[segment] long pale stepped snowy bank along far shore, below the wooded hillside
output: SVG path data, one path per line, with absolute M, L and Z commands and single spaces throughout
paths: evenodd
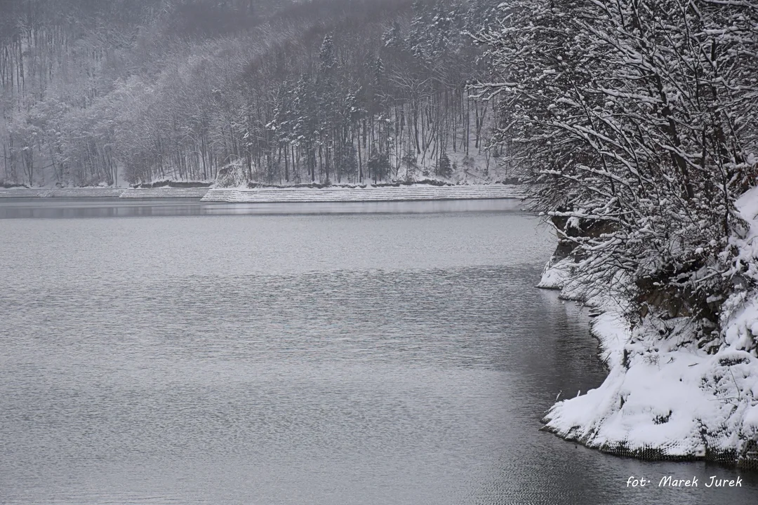
M 340 201 L 421 201 L 475 200 L 486 198 L 523 198 L 518 185 L 401 185 L 344 188 L 215 188 L 203 201 L 238 203 L 305 203 Z

